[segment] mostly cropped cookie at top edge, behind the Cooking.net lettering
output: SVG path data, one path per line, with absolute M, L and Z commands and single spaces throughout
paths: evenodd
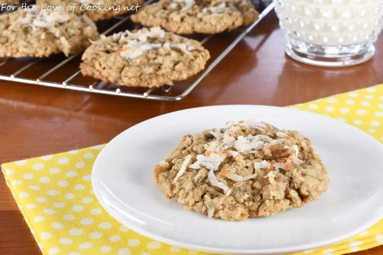
M 142 3 L 144 3 L 144 0 L 36 0 L 36 4 L 39 6 L 41 4 L 61 5 L 67 8 L 69 5 L 76 4 L 77 8 L 74 9 L 74 13 L 85 14 L 93 21 L 110 19 L 124 13 L 136 11 L 136 7 L 141 6 Z

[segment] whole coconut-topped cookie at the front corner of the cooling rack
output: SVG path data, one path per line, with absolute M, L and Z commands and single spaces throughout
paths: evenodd
M 124 31 L 85 50 L 83 75 L 132 87 L 160 87 L 186 80 L 205 68 L 210 58 L 200 42 L 159 27 Z

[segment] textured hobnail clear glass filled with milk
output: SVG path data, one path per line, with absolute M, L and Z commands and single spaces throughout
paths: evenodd
M 383 0 L 274 0 L 286 53 L 303 63 L 344 67 L 375 54 Z

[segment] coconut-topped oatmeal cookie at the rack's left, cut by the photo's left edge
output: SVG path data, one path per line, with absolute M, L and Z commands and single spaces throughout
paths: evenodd
M 48 57 L 79 53 L 98 36 L 87 16 L 67 11 L 21 11 L 0 16 L 0 57 Z

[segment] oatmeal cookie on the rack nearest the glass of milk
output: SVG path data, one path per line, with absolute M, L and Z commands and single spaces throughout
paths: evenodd
M 160 0 L 139 9 L 131 19 L 177 34 L 217 34 L 247 26 L 258 15 L 250 0 Z

